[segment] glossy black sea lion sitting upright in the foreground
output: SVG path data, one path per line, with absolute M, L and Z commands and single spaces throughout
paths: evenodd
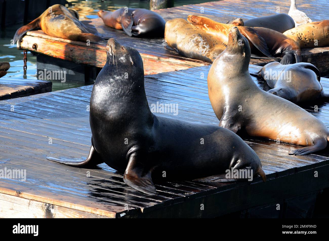
M 152 179 L 191 180 L 217 175 L 213 181 L 237 181 L 225 178 L 230 168 L 252 170 L 253 175 L 266 180 L 259 157 L 235 133 L 151 112 L 144 89 L 143 61 L 136 49 L 111 38 L 106 52 L 106 63 L 90 98 L 92 137 L 88 158 L 47 157 L 49 160 L 79 167 L 105 162 L 124 173 L 127 185 L 150 195 L 156 194 Z

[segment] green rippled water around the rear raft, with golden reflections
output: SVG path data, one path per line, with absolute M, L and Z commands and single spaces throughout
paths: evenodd
M 211 0 L 175 0 L 175 6 L 181 6 L 186 4 L 197 4 L 203 2 L 210 2 Z M 129 8 L 146 8 L 149 9 L 149 1 L 127 1 L 127 0 L 115 0 L 115 1 L 101 1 L 101 0 L 67 0 L 69 4 L 66 4 L 66 7 L 73 8 L 79 12 L 80 20 L 87 19 L 91 17 L 98 17 L 97 12 L 99 10 L 116 10 L 122 7 Z M 18 10 L 17 10 L 18 11 Z M 9 78 L 23 78 L 23 51 L 18 50 L 16 45 L 11 45 L 11 40 L 18 28 L 24 24 L 17 24 L 12 26 L 7 26 L 5 29 L 1 30 L 0 33 L 0 61 L 10 62 L 10 69 L 6 75 Z M 49 46 L 51 47 L 51 46 Z M 28 52 L 27 58 L 27 79 L 37 79 L 37 59 L 30 52 Z M 85 85 L 85 82 L 82 81 L 72 81 L 66 80 L 65 83 L 61 83 L 60 80 L 52 81 L 53 82 L 53 91 L 74 88 Z M 90 84 L 90 83 L 87 83 Z

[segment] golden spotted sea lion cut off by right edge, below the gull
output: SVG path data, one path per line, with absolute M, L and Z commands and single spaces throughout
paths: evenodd
M 329 45 L 329 20 L 300 25 L 283 33 L 303 48 L 317 48 Z

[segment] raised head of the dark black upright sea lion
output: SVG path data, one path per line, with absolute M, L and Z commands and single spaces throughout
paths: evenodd
M 143 60 L 136 49 L 123 46 L 114 38 L 110 38 L 106 44 L 106 54 L 106 65 L 120 68 L 120 70 L 122 70 L 124 66 L 124 72 L 144 74 Z

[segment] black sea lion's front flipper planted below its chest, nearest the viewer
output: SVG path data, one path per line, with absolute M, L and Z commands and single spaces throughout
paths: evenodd
M 129 157 L 126 171 L 123 175 L 123 181 L 128 186 L 146 193 L 156 195 L 157 191 L 151 178 L 151 170 L 145 170 L 145 165 L 138 160 L 138 154 L 133 153 Z

